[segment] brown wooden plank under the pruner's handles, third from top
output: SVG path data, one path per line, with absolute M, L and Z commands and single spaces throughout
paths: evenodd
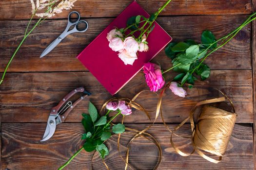
M 166 77 L 167 80 L 171 78 Z M 213 70 L 206 83 L 209 85 L 198 86 L 200 100 L 213 98 L 212 94 L 216 97 L 217 92 L 212 89 L 216 87 L 234 102 L 238 114 L 236 122 L 253 122 L 252 70 Z M 2 122 L 46 122 L 50 109 L 69 91 L 81 85 L 92 92 L 90 101 L 98 109 L 111 98 L 90 72 L 9 73 L 0 86 Z M 133 98 L 145 89 L 148 87 L 144 81 L 144 74 L 139 72 L 116 96 Z M 189 115 L 189 111 L 198 101 L 198 93 L 196 88 L 188 90 L 188 93 L 187 98 L 183 99 L 166 90 L 163 114 L 167 122 L 181 122 Z M 157 98 L 153 93 L 145 93 L 138 98 L 138 102 L 146 109 L 154 111 Z M 88 99 L 79 103 L 67 121 L 80 122 L 81 113 L 87 112 L 87 106 Z M 126 122 L 151 122 L 141 112 L 134 114 L 136 116 L 127 117 Z M 155 113 L 151 112 L 150 115 L 154 118 Z M 161 122 L 160 118 L 158 122 Z

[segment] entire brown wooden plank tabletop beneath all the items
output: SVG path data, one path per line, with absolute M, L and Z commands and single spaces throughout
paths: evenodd
M 67 123 L 57 126 L 51 139 L 44 143 L 39 140 L 43 136 L 50 109 L 70 90 L 83 85 L 93 93 L 90 101 L 98 109 L 111 98 L 76 56 L 131 2 L 132 0 L 78 0 L 73 9 L 79 11 L 81 17 L 89 22 L 88 31 L 68 35 L 43 59 L 39 59 L 40 53 L 63 31 L 69 11 L 45 20 L 29 35 L 0 85 L 2 170 L 56 170 L 81 147 L 81 113 L 87 112 L 88 99 L 79 103 L 67 118 Z M 138 0 L 149 13 L 155 12 L 164 2 L 165 0 Z M 158 23 L 174 41 L 186 38 L 199 41 L 203 30 L 209 29 L 219 38 L 234 30 L 255 10 L 256 0 L 173 0 L 158 17 Z M 0 0 L 0 72 L 3 72 L 20 43 L 30 16 L 29 0 Z M 163 149 L 163 159 L 158 170 L 256 169 L 255 35 L 256 22 L 246 26 L 231 42 L 206 61 L 212 69 L 207 80 L 208 85 L 225 92 L 234 102 L 238 114 L 222 161 L 214 164 L 197 154 L 182 157 L 174 150 L 172 153 L 165 152 L 166 148 L 171 147 L 170 133 L 159 118 L 158 123 L 149 130 Z M 158 61 L 164 69 L 171 66 L 171 61 L 163 51 L 154 61 Z M 139 91 L 148 89 L 143 76 L 139 72 L 116 96 L 132 98 Z M 206 96 L 213 93 L 209 86 L 201 86 L 199 91 Z M 156 97 L 145 94 L 138 102 L 153 107 Z M 193 104 L 195 102 L 177 98 L 167 92 L 163 102 L 165 121 L 174 128 L 188 116 Z M 154 117 L 154 113 L 151 116 Z M 152 121 L 139 112 L 125 120 L 127 127 L 137 129 L 143 129 L 150 122 Z M 188 135 L 189 128 L 189 124 L 186 124 L 179 134 Z M 130 137 L 122 137 L 122 154 Z M 188 140 L 174 140 L 180 148 L 189 144 Z M 117 137 L 112 137 L 107 142 L 110 154 L 106 163 L 111 170 L 124 168 L 124 163 L 118 156 L 116 141 Z M 153 144 L 136 140 L 131 150 L 131 164 L 136 170 L 150 170 L 156 163 L 157 154 Z M 81 152 L 67 170 L 89 170 L 91 157 L 92 153 Z M 93 167 L 95 170 L 104 170 L 98 157 L 93 162 Z

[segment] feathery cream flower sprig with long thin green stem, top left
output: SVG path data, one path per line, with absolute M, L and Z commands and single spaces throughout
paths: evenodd
M 34 0 L 30 0 L 31 6 L 32 6 L 32 16 L 28 22 L 27 28 L 25 30 L 25 34 L 23 39 L 21 40 L 19 46 L 14 51 L 12 57 L 10 58 L 9 62 L 7 63 L 4 72 L 2 74 L 2 77 L 0 79 L 0 85 L 3 82 L 3 79 L 5 77 L 6 71 L 9 68 L 14 56 L 19 51 L 20 46 L 25 41 L 25 39 L 28 37 L 29 34 L 32 33 L 32 31 L 40 24 L 42 21 L 44 21 L 47 17 L 53 17 L 56 14 L 59 14 L 62 12 L 62 10 L 69 10 L 74 6 L 74 3 L 77 0 L 36 0 L 36 3 Z M 43 12 L 40 12 L 43 11 Z M 39 17 L 38 21 L 35 23 L 35 25 L 31 28 L 30 31 L 28 31 L 28 28 L 31 24 L 32 19 L 37 16 Z

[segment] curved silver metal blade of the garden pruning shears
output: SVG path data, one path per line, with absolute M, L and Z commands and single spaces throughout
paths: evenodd
M 42 140 L 40 140 L 40 142 L 46 141 L 53 136 L 56 129 L 55 118 L 56 116 L 51 116 L 51 115 L 49 116 L 43 138 Z

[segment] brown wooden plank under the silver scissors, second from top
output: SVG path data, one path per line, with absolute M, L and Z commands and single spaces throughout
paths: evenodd
M 246 17 L 245 15 L 160 17 L 158 22 L 173 36 L 174 41 L 191 38 L 199 42 L 203 30 L 209 29 L 217 38 L 220 38 L 236 29 Z M 113 18 L 87 19 L 90 27 L 86 33 L 68 35 L 56 49 L 45 58 L 39 59 L 41 52 L 58 37 L 67 22 L 66 20 L 47 20 L 27 38 L 8 71 L 86 70 L 75 57 L 112 20 Z M 2 37 L 0 39 L 0 71 L 4 70 L 10 56 L 22 39 L 27 22 L 0 21 L 0 37 Z M 51 28 L 50 32 L 49 28 Z M 248 25 L 230 43 L 212 54 L 206 62 L 211 69 L 251 69 L 250 39 L 250 25 Z M 158 61 L 165 69 L 171 67 L 171 60 L 165 56 L 163 51 L 154 61 Z

